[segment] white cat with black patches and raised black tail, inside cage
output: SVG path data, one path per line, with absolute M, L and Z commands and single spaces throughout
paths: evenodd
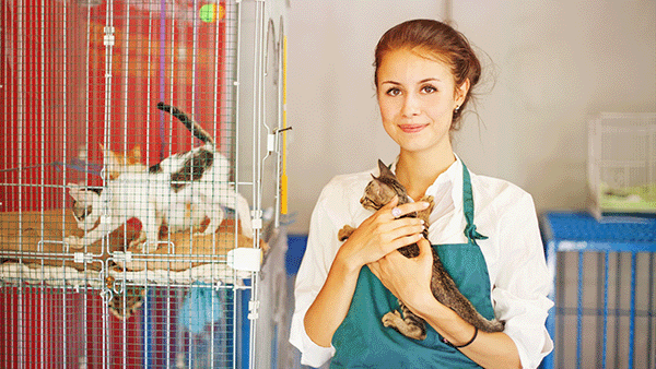
M 222 206 L 236 209 L 242 234 L 253 237 L 248 202 L 239 193 L 234 195 L 230 162 L 216 151 L 213 138 L 178 108 L 164 103 L 157 108 L 177 118 L 204 145 L 174 154 L 148 169 L 125 170 L 105 188 L 69 183 L 73 215 L 78 227 L 86 231 L 83 237 L 66 237 L 69 247 L 90 246 L 134 217 L 141 222 L 142 235 L 130 246 L 145 242 L 144 251 L 153 252 L 162 224 L 175 231 L 199 226 L 207 216 L 210 224 L 202 234 L 213 234 L 225 216 Z M 104 152 L 107 157 L 109 152 Z M 115 162 L 108 163 L 112 167 Z M 189 210 L 191 219 L 185 217 Z

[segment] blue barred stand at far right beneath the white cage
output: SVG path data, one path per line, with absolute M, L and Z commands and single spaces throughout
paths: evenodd
M 648 317 L 647 332 L 652 332 L 655 319 L 654 306 L 656 302 L 654 302 L 654 296 L 649 294 L 649 296 L 647 296 L 649 301 L 648 311 L 636 310 L 636 274 L 646 273 L 652 283 L 655 281 L 654 262 L 656 258 L 654 258 L 654 254 L 656 253 L 656 216 L 653 214 L 609 214 L 604 216 L 601 219 L 596 219 L 587 212 L 549 212 L 541 217 L 541 228 L 547 249 L 547 263 L 552 273 L 553 281 L 550 297 L 554 301 L 557 301 L 558 296 L 562 294 L 562 290 L 559 290 L 559 288 L 565 288 L 564 286 L 557 285 L 558 276 L 565 272 L 577 273 L 577 306 L 575 308 L 567 308 L 563 305 L 559 308 L 559 305 L 562 305 L 562 301 L 557 301 L 557 309 L 552 309 L 550 311 L 550 316 L 547 321 L 549 332 L 554 341 L 557 341 L 555 347 L 557 350 L 559 350 L 559 348 L 563 348 L 563 346 L 562 342 L 559 342 L 559 337 L 554 336 L 557 316 L 576 317 L 576 330 L 574 331 L 567 329 L 567 332 L 570 332 L 567 334 L 573 332 L 576 333 L 576 361 L 563 362 L 561 357 L 559 360 L 560 362 L 555 365 L 554 353 L 552 353 L 544 359 L 542 368 L 555 368 L 561 367 L 562 365 L 567 365 L 567 367 L 571 365 L 575 368 L 582 367 L 582 340 L 584 332 L 583 319 L 585 316 L 596 316 L 601 321 L 601 328 L 599 330 L 598 337 L 599 347 L 597 347 L 598 362 L 600 364 L 601 368 L 613 367 L 613 365 L 619 365 L 620 361 L 622 365 L 626 365 L 628 368 L 640 367 L 636 366 L 635 362 L 636 352 L 634 343 L 636 332 L 636 316 Z M 578 260 L 578 267 L 576 271 L 558 270 L 558 253 L 563 251 L 575 252 L 575 257 Z M 584 267 L 584 254 L 587 252 L 597 252 L 599 258 L 601 258 L 602 262 L 599 264 L 600 266 L 598 265 L 599 270 L 586 271 Z M 616 255 L 616 258 L 618 258 L 617 260 L 620 260 L 620 255 L 624 254 L 631 261 L 630 271 L 622 274 L 629 279 L 631 287 L 629 294 L 630 301 L 625 301 L 625 303 L 629 305 L 629 309 L 626 311 L 619 308 L 619 295 L 614 296 L 614 307 L 609 303 L 609 254 L 613 253 L 618 253 L 618 255 Z M 652 266 L 648 267 L 647 271 L 636 270 L 636 260 L 639 253 L 645 253 L 648 255 L 648 265 Z M 584 294 L 584 274 L 588 274 L 589 272 L 597 274 L 598 283 L 604 288 L 602 301 L 594 309 L 585 308 L 582 299 Z M 618 274 L 620 272 L 618 271 Z M 649 290 L 653 289 L 653 287 L 649 287 Z M 616 293 L 619 294 L 618 288 L 616 288 Z M 628 343 L 609 342 L 609 336 L 607 334 L 610 324 L 609 322 L 612 319 L 618 319 L 618 317 L 626 317 L 630 320 Z M 559 329 L 562 334 L 564 326 L 559 325 Z M 652 348 L 652 336 L 653 335 L 649 335 L 647 337 L 648 352 L 646 353 L 646 360 L 648 361 L 647 365 L 649 367 L 656 361 L 656 357 Z M 614 347 L 618 347 L 619 344 L 628 345 L 626 357 L 618 358 L 619 354 L 616 352 L 613 356 L 616 362 L 607 364 L 608 347 L 613 345 Z M 560 353 L 559 355 L 562 356 L 563 353 Z

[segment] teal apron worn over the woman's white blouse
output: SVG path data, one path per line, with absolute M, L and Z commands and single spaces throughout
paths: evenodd
M 473 225 L 473 198 L 469 171 L 462 164 L 462 207 L 467 243 L 434 245 L 444 267 L 467 297 L 487 319 L 494 318 L 490 300 L 490 277 L 476 239 L 487 237 Z M 426 338 L 408 338 L 380 322 L 385 313 L 397 310 L 398 299 L 364 266 L 349 313 L 335 332 L 336 348 L 330 368 L 480 368 L 458 349 L 443 342 L 426 324 Z

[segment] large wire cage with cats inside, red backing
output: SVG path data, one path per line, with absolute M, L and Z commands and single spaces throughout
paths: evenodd
M 257 76 L 270 3 L 0 11 L 2 367 L 254 367 L 261 262 L 279 234 L 261 195 L 276 188 L 280 203 L 279 176 L 263 178 L 262 157 L 281 157 L 278 141 L 244 153 L 263 133 L 239 119 L 244 106 L 263 116 L 260 90 L 282 91 Z

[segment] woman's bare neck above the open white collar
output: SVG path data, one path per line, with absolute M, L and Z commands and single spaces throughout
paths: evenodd
M 401 151 L 396 167 L 396 177 L 403 184 L 410 198 L 418 201 L 455 160 L 453 151 L 442 155 L 422 155 Z

